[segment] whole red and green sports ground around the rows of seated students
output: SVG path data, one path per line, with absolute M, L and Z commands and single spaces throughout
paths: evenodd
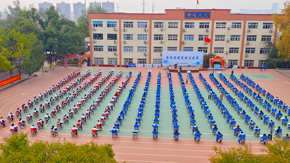
M 81 74 L 83 74 L 87 71 L 88 68 L 91 71 L 91 76 L 97 73 L 99 69 L 102 70 L 102 75 L 104 76 L 110 71 L 112 67 L 57 67 L 50 70 L 49 72 L 38 72 L 38 76 L 23 81 L 22 83 L 14 85 L 0 92 L 0 116 L 3 116 L 4 119 L 7 119 L 8 113 L 12 112 L 14 114 L 15 110 L 18 107 L 21 107 L 22 104 L 27 104 L 28 100 L 33 99 L 34 96 L 38 96 L 39 93 L 43 93 L 43 91 L 47 90 L 52 85 L 55 85 L 60 80 L 71 74 L 73 71 L 77 71 L 77 69 L 79 69 L 81 71 Z M 172 113 L 169 100 L 170 96 L 168 89 L 168 77 L 165 77 L 166 71 L 161 68 L 114 68 L 115 73 L 113 76 L 118 74 L 120 71 L 123 72 L 123 76 L 112 88 L 112 91 L 108 94 L 108 96 L 106 96 L 106 98 L 97 108 L 97 110 L 95 110 L 95 113 L 91 114 L 91 118 L 87 120 L 87 124 L 83 124 L 83 129 L 79 131 L 79 136 L 77 136 L 76 138 L 70 138 L 71 128 L 73 127 L 73 125 L 76 125 L 77 120 L 81 118 L 81 114 L 85 113 L 85 111 L 89 109 L 90 105 L 92 105 L 93 101 L 101 93 L 104 87 L 97 91 L 95 96 L 93 96 L 92 99 L 89 99 L 89 102 L 86 103 L 86 105 L 82 106 L 82 109 L 79 110 L 79 113 L 76 114 L 73 119 L 70 119 L 70 122 L 68 124 L 64 124 L 64 129 L 59 129 L 59 135 L 57 135 L 55 138 L 50 138 L 50 127 L 52 125 L 56 126 L 56 122 L 58 119 L 62 120 L 62 117 L 65 114 L 68 115 L 68 110 L 72 109 L 73 105 L 76 105 L 76 102 L 84 97 L 84 94 L 87 93 L 91 88 L 93 88 L 93 85 L 95 85 L 96 82 L 86 91 L 84 91 L 84 93 L 79 95 L 77 99 L 72 102 L 72 104 L 66 107 L 66 109 L 62 109 L 62 112 L 57 114 L 56 118 L 52 118 L 51 122 L 46 123 L 45 128 L 43 130 L 39 130 L 38 135 L 36 135 L 35 137 L 29 136 L 30 140 L 34 141 L 36 139 L 42 139 L 47 141 L 58 141 L 59 138 L 66 138 L 66 140 L 75 142 L 77 144 L 90 142 L 92 140 L 94 142 L 97 142 L 98 144 L 112 143 L 114 144 L 113 149 L 116 153 L 115 159 L 119 162 L 192 162 L 192 159 L 209 162 L 209 154 L 213 153 L 210 148 L 212 145 L 218 145 L 225 149 L 227 149 L 229 146 L 240 146 L 240 144 L 237 144 L 238 137 L 235 137 L 233 135 L 233 130 L 229 129 L 229 124 L 226 123 L 226 119 L 224 119 L 223 115 L 220 114 L 220 111 L 215 106 L 213 100 L 209 100 L 207 98 L 207 91 L 206 89 L 204 89 L 202 82 L 200 82 L 200 80 L 198 79 L 198 74 L 201 73 L 208 80 L 208 83 L 211 85 L 211 87 L 215 88 L 215 86 L 209 81 L 208 78 L 210 71 L 200 71 L 199 73 L 192 73 L 192 75 L 195 79 L 197 86 L 200 88 L 201 94 L 203 95 L 206 103 L 209 106 L 209 110 L 211 110 L 213 118 L 216 121 L 215 124 L 217 124 L 218 126 L 218 131 L 220 131 L 224 135 L 222 144 L 218 144 L 215 142 L 216 137 L 212 134 L 212 129 L 210 129 L 205 114 L 200 108 L 200 104 L 197 100 L 196 94 L 193 91 L 193 87 L 190 82 L 186 84 L 186 89 L 189 93 L 191 105 L 193 106 L 196 125 L 198 126 L 199 131 L 202 133 L 201 140 L 200 142 L 197 142 L 197 144 L 195 144 L 194 142 L 194 135 L 192 133 L 189 122 L 190 117 L 187 113 L 177 73 L 172 72 L 172 83 L 175 95 L 175 102 L 177 105 L 176 109 L 178 110 L 177 119 L 178 125 L 180 126 L 179 132 L 181 134 L 179 137 L 179 142 L 174 142 L 171 116 Z M 146 105 L 144 107 L 144 114 L 142 116 L 141 126 L 139 127 L 138 139 L 136 140 L 136 138 L 134 138 L 132 140 L 132 130 L 134 129 L 133 124 L 135 124 L 136 122 L 135 118 L 137 117 L 137 109 L 139 108 L 139 103 L 143 94 L 148 69 L 152 69 L 152 76 L 146 98 Z M 229 78 L 231 70 L 232 69 L 227 69 L 225 71 L 222 71 L 222 74 L 225 75 L 226 78 Z M 102 116 L 105 107 L 110 102 L 110 99 L 117 90 L 117 87 L 121 84 L 125 76 L 130 71 L 132 72 L 132 77 L 126 86 L 126 89 L 124 89 L 122 95 L 119 97 L 119 100 L 117 101 L 115 107 L 113 107 L 113 111 L 109 115 L 109 119 L 106 120 L 106 124 L 103 126 L 103 130 L 98 132 L 99 136 L 97 138 L 91 138 L 91 129 L 96 125 L 97 120 L 99 120 L 100 116 Z M 142 72 L 141 80 L 139 81 L 138 87 L 136 88 L 136 92 L 127 111 L 127 115 L 122 122 L 122 126 L 120 126 L 118 138 L 114 138 L 112 140 L 110 128 L 114 126 L 114 123 L 119 116 L 119 112 L 122 110 L 123 104 L 128 97 L 129 89 L 131 89 L 131 86 L 133 85 L 133 82 L 137 77 L 136 74 L 138 74 L 139 71 Z M 162 73 L 160 91 L 160 121 L 158 128 L 159 134 L 158 140 L 152 140 L 152 124 L 155 113 L 154 105 L 158 72 Z M 260 85 L 260 87 L 273 94 L 273 96 L 278 96 L 280 100 L 290 105 L 290 100 L 288 98 L 290 91 L 290 80 L 285 78 L 284 76 L 281 76 L 280 74 L 270 69 L 267 69 L 266 72 L 260 72 L 259 69 L 234 69 L 234 72 L 234 75 L 237 77 L 240 76 L 241 73 L 243 73 L 245 76 L 248 76 L 250 79 L 254 80 L 256 84 Z M 184 80 L 186 78 L 186 75 L 186 73 L 182 73 Z M 217 75 L 216 71 L 215 75 Z M 217 76 L 215 77 L 218 78 Z M 107 82 L 111 81 L 111 79 L 112 78 L 110 78 Z M 96 81 L 98 81 L 98 79 Z M 224 86 L 224 84 L 222 85 Z M 74 88 L 74 90 L 76 90 L 76 88 Z M 220 93 L 218 92 L 218 90 L 213 90 L 219 96 Z M 48 98 L 44 98 L 44 101 L 41 101 L 38 105 L 35 105 L 34 108 L 38 109 L 40 104 L 44 105 L 45 100 L 49 100 L 50 97 L 54 96 L 55 94 L 56 92 L 52 95 L 49 95 Z M 234 98 L 237 97 L 234 96 Z M 44 120 L 44 115 L 46 113 L 50 114 L 51 109 L 55 108 L 56 105 L 60 105 L 61 101 L 63 101 L 64 99 L 65 98 L 60 99 L 58 102 L 56 102 L 55 105 L 52 105 L 50 109 L 47 109 L 45 113 L 40 113 L 39 118 Z M 258 119 L 240 100 L 237 100 L 237 102 L 251 117 L 251 120 L 256 122 L 256 125 L 261 129 L 261 134 L 268 134 L 267 126 L 262 124 L 262 121 Z M 253 103 L 264 112 L 264 108 L 261 108 L 258 102 Z M 263 148 L 263 146 L 259 143 L 260 138 L 253 135 L 253 129 L 250 130 L 248 128 L 248 125 L 244 123 L 244 119 L 240 118 L 240 116 L 236 113 L 236 111 L 233 110 L 233 108 L 225 100 L 225 98 L 223 104 L 229 110 L 229 113 L 233 116 L 233 118 L 235 118 L 235 120 L 237 121 L 237 125 L 240 125 L 240 128 L 244 131 L 245 135 L 247 135 L 246 143 L 251 143 L 251 145 L 253 146 L 253 152 L 260 153 L 260 147 Z M 32 109 L 29 109 L 28 113 L 32 114 Z M 28 113 L 24 113 L 22 118 L 25 119 Z M 266 113 L 267 116 L 270 117 L 270 120 L 273 120 L 273 122 L 275 122 L 275 128 L 281 126 L 283 135 L 285 135 L 286 133 L 290 134 L 290 131 L 286 130 L 286 126 L 279 125 L 281 123 L 280 120 L 275 120 L 275 118 L 266 111 L 264 113 Z M 285 116 L 284 114 L 286 115 L 286 113 L 283 113 L 283 117 Z M 30 125 L 36 125 L 36 122 L 39 118 L 35 118 L 33 122 L 28 123 L 28 127 L 24 128 L 23 130 L 19 129 L 19 132 L 29 132 Z M 19 118 L 17 117 L 14 121 L 15 124 L 17 124 L 18 119 Z M 9 136 L 10 134 L 9 126 L 11 125 L 11 123 L 8 122 L 7 125 L 7 127 L 0 129 L 1 138 L 4 136 Z

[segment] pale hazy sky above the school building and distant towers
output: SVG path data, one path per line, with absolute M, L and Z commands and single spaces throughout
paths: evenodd
M 0 11 L 3 11 L 7 5 L 13 5 L 13 0 L 1 0 L 0 1 Z M 73 11 L 73 3 L 82 2 L 85 0 L 44 0 L 49 3 L 56 3 L 64 1 L 66 3 L 71 3 L 71 11 Z M 87 6 L 89 2 L 95 0 L 86 0 Z M 105 0 L 96 0 L 97 2 L 103 2 Z M 255 10 L 271 10 L 272 3 L 279 3 L 279 9 L 283 8 L 283 3 L 286 0 L 199 0 L 198 9 L 231 9 L 232 12 L 239 12 L 240 9 L 255 9 Z M 22 6 L 29 6 L 31 3 L 34 4 L 35 8 L 38 8 L 38 3 L 42 3 L 43 0 L 20 0 Z M 128 13 L 141 13 L 142 12 L 142 0 L 112 0 L 116 4 L 119 4 L 119 12 Z M 145 12 L 152 13 L 152 4 L 155 2 L 155 13 L 164 13 L 165 9 L 172 8 L 186 8 L 186 9 L 196 9 L 196 0 L 145 0 Z

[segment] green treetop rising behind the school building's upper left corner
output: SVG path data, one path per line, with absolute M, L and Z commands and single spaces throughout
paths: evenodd
M 81 16 L 77 19 L 77 23 L 81 23 L 83 21 L 89 25 L 89 13 L 107 13 L 108 11 L 101 6 L 89 6 L 85 10 L 81 11 Z

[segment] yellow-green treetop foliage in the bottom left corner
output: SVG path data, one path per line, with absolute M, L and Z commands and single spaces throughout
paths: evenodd
M 107 162 L 117 163 L 112 144 L 98 145 L 90 142 L 77 145 L 66 141 L 47 142 L 35 140 L 30 142 L 27 133 L 4 137 L 0 144 L 1 162 Z

